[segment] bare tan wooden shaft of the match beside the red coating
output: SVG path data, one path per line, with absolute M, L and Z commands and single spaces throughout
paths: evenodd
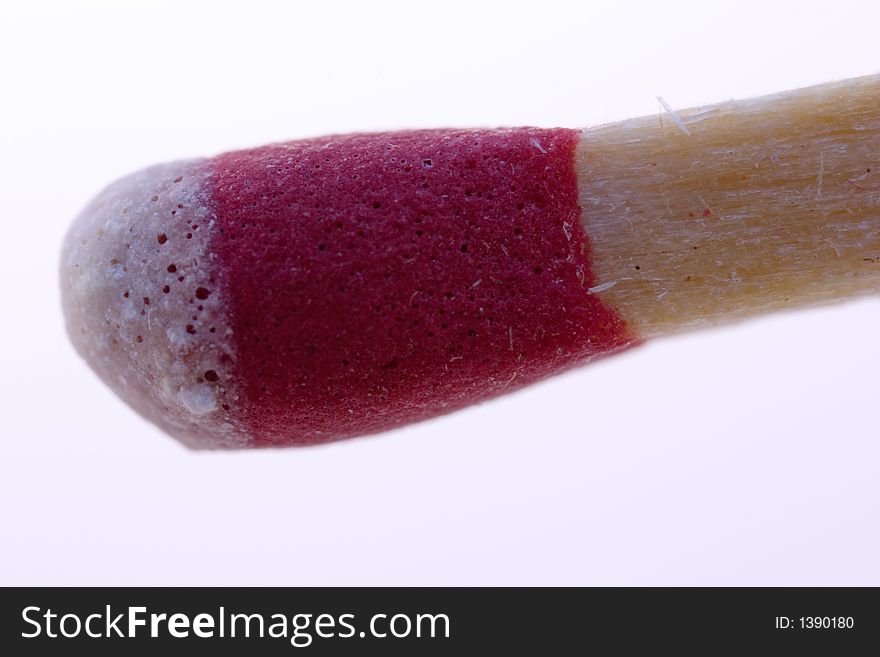
M 588 128 L 576 168 L 637 335 L 880 291 L 880 76 Z

